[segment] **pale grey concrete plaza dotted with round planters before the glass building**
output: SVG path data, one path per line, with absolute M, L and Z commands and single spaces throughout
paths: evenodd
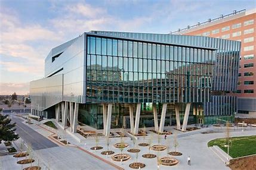
M 17 118 L 14 118 L 17 120 Z M 34 121 L 35 122 L 35 121 Z M 98 146 L 103 146 L 101 150 L 91 150 L 91 147 L 95 146 L 95 138 L 87 138 L 83 140 L 82 143 L 79 143 L 75 138 L 70 136 L 61 128 L 58 128 L 58 131 L 53 128 L 49 128 L 45 125 L 35 124 L 28 125 L 26 123 L 20 122 L 23 125 L 33 128 L 37 135 L 41 135 L 45 140 L 49 140 L 49 143 L 53 143 L 53 139 L 50 136 L 53 134 L 58 134 L 64 140 L 69 141 L 71 144 L 68 146 L 63 146 L 60 143 L 59 147 L 45 147 L 44 149 L 35 149 L 35 158 L 36 162 L 39 159 L 39 165 L 42 168 L 46 169 L 131 169 L 129 168 L 129 163 L 136 161 L 136 153 L 129 153 L 127 149 L 133 148 L 133 141 L 129 137 L 124 137 L 124 142 L 128 143 L 129 146 L 124 149 L 123 153 L 128 153 L 131 156 L 131 159 L 122 162 L 115 162 L 111 159 L 111 156 L 101 155 L 101 152 L 107 150 L 106 137 L 99 137 Z M 20 126 L 20 124 L 18 124 Z M 57 125 L 57 124 L 56 124 Z M 178 147 L 177 151 L 183 153 L 181 156 L 174 156 L 178 159 L 179 163 L 175 166 L 164 166 L 160 165 L 159 169 L 229 169 L 225 166 L 223 160 L 221 160 L 212 150 L 207 146 L 209 140 L 214 138 L 225 137 L 225 128 L 213 127 L 201 128 L 200 130 L 190 131 L 183 133 L 177 131 L 174 127 L 166 127 L 171 129 L 172 133 L 177 134 Z M 215 133 L 202 134 L 204 131 L 214 131 Z M 242 131 L 241 128 L 232 128 L 230 130 L 231 136 L 250 136 L 256 135 L 256 128 L 246 128 Z M 152 141 L 152 145 L 158 144 L 158 134 L 152 133 L 147 130 L 148 136 L 145 138 L 145 142 L 149 143 L 149 140 Z M 48 139 L 47 139 L 48 138 Z M 50 141 L 51 140 L 51 141 Z M 26 140 L 25 140 L 26 141 Z M 115 147 L 113 144 L 119 143 L 121 138 L 115 137 L 110 138 L 109 150 L 113 150 L 116 153 L 121 151 Z M 16 141 L 17 142 L 17 141 Z M 32 141 L 39 142 L 39 141 Z M 47 142 L 47 141 L 46 141 Z M 143 158 L 141 155 L 144 153 L 149 153 L 149 147 L 138 146 L 138 143 L 143 143 L 143 137 L 139 137 L 136 141 L 135 147 L 141 151 L 138 153 L 138 162 L 143 162 L 146 164 L 146 167 L 143 169 L 158 169 L 157 158 L 147 159 Z M 174 151 L 174 135 L 167 136 L 166 140 L 164 136 L 160 136 L 160 143 L 169 147 L 168 151 Z M 55 144 L 55 143 L 54 143 Z M 18 145 L 18 144 L 17 144 Z M 159 158 L 167 155 L 167 150 L 156 152 L 150 150 L 150 153 L 154 153 Z M 191 158 L 191 165 L 187 165 L 187 156 Z M 1 166 L 2 169 L 20 169 L 20 165 L 17 165 L 16 158 L 10 156 L 1 156 Z M 37 165 L 37 163 L 35 163 Z M 113 166 L 116 165 L 116 166 Z

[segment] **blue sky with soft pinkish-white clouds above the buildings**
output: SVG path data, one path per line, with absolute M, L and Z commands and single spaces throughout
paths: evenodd
M 169 33 L 255 0 L 0 0 L 0 95 L 29 93 L 52 48 L 90 30 Z

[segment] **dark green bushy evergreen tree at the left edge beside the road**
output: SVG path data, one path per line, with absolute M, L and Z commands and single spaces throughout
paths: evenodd
M 11 119 L 7 118 L 8 115 L 0 115 L 0 143 L 1 141 L 17 140 L 18 134 L 15 134 L 15 125 L 11 124 Z

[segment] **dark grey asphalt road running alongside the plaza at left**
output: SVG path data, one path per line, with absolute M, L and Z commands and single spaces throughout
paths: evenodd
M 23 124 L 22 119 L 13 117 L 12 121 L 16 122 L 16 133 L 25 141 L 25 143 L 29 144 L 33 150 L 47 149 L 58 146 L 53 141 Z

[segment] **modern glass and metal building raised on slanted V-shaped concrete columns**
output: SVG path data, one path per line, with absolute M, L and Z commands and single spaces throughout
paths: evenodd
M 50 51 L 45 78 L 30 83 L 32 114 L 106 135 L 232 121 L 239 56 L 233 40 L 91 31 Z

